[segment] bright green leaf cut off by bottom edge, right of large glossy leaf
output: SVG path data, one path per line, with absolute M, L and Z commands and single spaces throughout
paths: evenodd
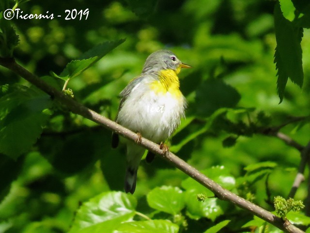
M 177 233 L 179 226 L 168 220 L 124 222 L 117 230 L 121 233 Z

